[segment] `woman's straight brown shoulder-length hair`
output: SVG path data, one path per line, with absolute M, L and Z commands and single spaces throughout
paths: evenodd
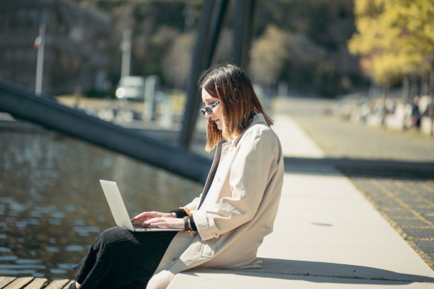
M 220 100 L 226 127 L 218 130 L 216 123 L 208 120 L 206 128 L 206 151 L 210 152 L 218 142 L 241 135 L 252 123 L 256 113 L 262 113 L 268 125 L 271 118 L 265 113 L 259 98 L 255 94 L 252 81 L 245 71 L 234 64 L 223 64 L 206 70 L 199 78 L 199 90 Z

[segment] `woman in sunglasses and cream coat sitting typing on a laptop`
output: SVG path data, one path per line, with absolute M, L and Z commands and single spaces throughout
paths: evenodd
M 240 67 L 209 69 L 199 89 L 208 120 L 206 151 L 216 147 L 204 191 L 172 212 L 132 219 L 185 232 L 108 229 L 74 269 L 71 288 L 166 288 L 176 273 L 190 268 L 261 267 L 257 248 L 272 232 L 282 191 L 279 139 Z

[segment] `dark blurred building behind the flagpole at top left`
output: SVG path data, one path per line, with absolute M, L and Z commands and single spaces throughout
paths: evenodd
M 111 16 L 68 0 L 1 1 L 0 79 L 35 88 L 35 39 L 45 23 L 43 92 L 107 89 Z

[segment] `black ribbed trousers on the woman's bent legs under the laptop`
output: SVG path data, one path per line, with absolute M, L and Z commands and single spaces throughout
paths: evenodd
M 144 289 L 175 234 L 106 229 L 75 266 L 75 280 L 82 289 Z

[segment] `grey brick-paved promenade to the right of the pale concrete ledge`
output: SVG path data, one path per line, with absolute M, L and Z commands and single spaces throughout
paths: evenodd
M 335 101 L 280 98 L 276 104 L 325 153 L 321 161 L 290 161 L 334 164 L 434 269 L 434 138 L 325 115 Z

